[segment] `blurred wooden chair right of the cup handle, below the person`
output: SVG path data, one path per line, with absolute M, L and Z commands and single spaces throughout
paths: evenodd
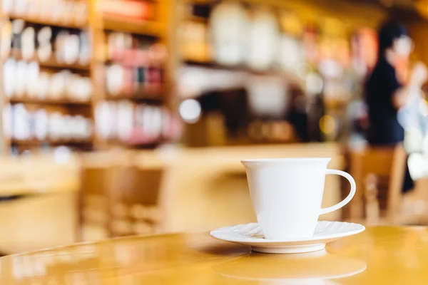
M 351 152 L 350 160 L 350 173 L 357 182 L 357 195 L 350 204 L 349 219 L 365 217 L 367 224 L 410 222 L 414 217 L 412 212 L 404 212 L 402 207 L 407 163 L 404 147 L 370 147 Z

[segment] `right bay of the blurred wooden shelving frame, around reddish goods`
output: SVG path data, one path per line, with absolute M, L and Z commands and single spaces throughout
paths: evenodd
M 98 0 L 100 1 L 100 0 Z M 172 43 L 174 32 L 170 32 L 168 27 L 173 27 L 173 0 L 148 0 L 151 4 L 156 5 L 156 13 L 154 19 L 139 20 L 129 19 L 126 17 L 96 14 L 90 21 L 96 21 L 96 68 L 98 71 L 106 68 L 107 64 L 116 63 L 106 58 L 105 49 L 99 48 L 106 42 L 106 35 L 110 32 L 131 33 L 133 36 L 142 36 L 151 38 L 153 42 L 162 43 L 168 48 L 168 53 L 172 58 Z M 118 95 L 108 94 L 105 86 L 105 81 L 100 80 L 98 84 L 97 98 L 98 102 L 106 100 L 108 102 L 119 102 L 123 100 L 131 101 L 136 104 L 163 105 L 167 108 L 173 108 L 173 100 L 170 97 L 170 86 L 172 85 L 173 64 L 172 61 L 162 63 L 164 82 L 161 88 L 156 90 L 136 90 L 132 93 L 124 93 Z M 131 67 L 133 64 L 121 63 L 122 66 Z M 104 78 L 103 78 L 104 79 Z M 94 98 L 95 99 L 95 98 Z M 108 147 L 127 147 L 127 148 L 153 148 L 161 145 L 165 140 L 161 136 L 156 140 L 147 140 L 144 142 L 121 142 L 118 139 L 103 139 L 98 138 L 96 145 L 98 148 L 105 149 Z

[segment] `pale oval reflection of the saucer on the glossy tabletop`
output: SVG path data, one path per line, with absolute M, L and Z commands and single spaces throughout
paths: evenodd
M 263 281 L 263 284 L 335 284 L 340 279 L 365 271 L 359 259 L 328 254 L 325 249 L 305 254 L 259 254 L 238 257 L 214 266 L 230 279 Z

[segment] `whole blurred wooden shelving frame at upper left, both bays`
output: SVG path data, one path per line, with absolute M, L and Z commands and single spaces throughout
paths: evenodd
M 31 1 L 31 0 L 29 0 Z M 88 101 L 78 101 L 71 100 L 63 96 L 58 99 L 38 99 L 30 98 L 29 96 L 13 96 L 12 98 L 7 98 L 4 95 L 3 90 L 3 64 L 7 58 L 4 58 L 0 61 L 0 95 L 1 103 L 6 104 L 24 104 L 28 105 L 29 108 L 45 108 L 46 110 L 54 110 L 60 113 L 70 113 L 72 115 L 83 114 L 85 116 L 90 116 L 86 118 L 91 118 L 93 122 L 93 135 L 90 140 L 16 140 L 14 138 L 6 138 L 4 133 L 1 133 L 3 138 L 3 152 L 10 153 L 12 146 L 19 147 L 29 147 L 36 148 L 46 145 L 67 145 L 71 148 L 78 148 L 82 146 L 82 149 L 105 149 L 108 147 L 117 147 L 123 145 L 123 142 L 120 141 L 108 141 L 106 139 L 100 138 L 96 133 L 96 106 L 103 101 L 118 101 L 118 100 L 129 100 L 134 103 L 148 103 L 154 105 L 165 105 L 171 107 L 169 90 L 172 81 L 171 68 L 173 66 L 170 64 L 171 60 L 168 60 L 167 63 L 163 66 L 163 71 L 165 71 L 165 79 L 163 81 L 163 86 L 156 91 L 148 90 L 138 90 L 134 93 L 126 93 L 123 95 L 111 96 L 106 92 L 106 78 L 104 74 L 106 72 L 106 64 L 112 63 L 108 62 L 106 58 L 106 33 L 111 31 L 131 33 L 137 36 L 146 36 L 148 38 L 153 38 L 153 41 L 163 43 L 168 48 L 168 53 L 171 50 L 173 33 L 169 33 L 168 26 L 170 26 L 171 16 L 173 15 L 173 0 L 144 0 L 148 1 L 153 5 L 156 5 L 156 10 L 154 10 L 154 17 L 151 21 L 143 21 L 136 19 L 129 19 L 127 17 L 121 16 L 106 16 L 101 11 L 101 1 L 103 0 L 86 0 L 88 8 L 88 19 L 79 19 L 79 21 L 74 21 L 72 19 L 63 19 L 57 18 L 54 19 L 42 18 L 39 16 L 29 16 L 26 14 L 16 14 L 13 12 L 4 13 L 1 11 L 0 7 L 0 20 L 8 21 L 14 19 L 22 19 L 27 23 L 33 24 L 34 26 L 51 26 L 54 28 L 66 28 L 70 31 L 76 30 L 87 30 L 90 39 L 91 39 L 91 61 L 88 65 L 81 65 L 79 63 L 67 64 L 63 62 L 56 61 L 56 58 L 52 56 L 47 61 L 41 61 L 37 56 L 33 58 L 23 59 L 21 53 L 18 50 L 12 50 L 9 54 L 9 58 L 14 58 L 16 61 L 26 61 L 26 62 L 37 62 L 43 70 L 47 71 L 61 71 L 69 70 L 72 73 L 78 73 L 85 76 L 90 76 L 93 83 L 93 94 L 91 99 Z M 1 2 L 1 1 L 0 1 Z M 36 54 L 36 53 L 35 53 Z M 39 107 L 38 107 L 39 106 Z M 2 109 L 3 110 L 3 109 Z M 1 116 L 0 116 L 1 117 Z M 3 128 L 3 123 L 0 124 Z M 161 141 L 159 141 L 161 142 Z M 156 142 L 156 145 L 158 142 Z M 147 144 L 148 147 L 155 145 L 153 142 Z M 141 145 L 123 145 L 125 147 L 141 147 Z

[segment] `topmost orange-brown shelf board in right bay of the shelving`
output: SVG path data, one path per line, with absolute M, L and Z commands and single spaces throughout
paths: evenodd
M 145 21 L 135 19 L 123 19 L 115 16 L 103 16 L 104 29 L 111 31 L 122 31 L 125 33 L 135 33 L 143 36 L 153 36 L 163 38 L 165 28 L 157 21 Z

